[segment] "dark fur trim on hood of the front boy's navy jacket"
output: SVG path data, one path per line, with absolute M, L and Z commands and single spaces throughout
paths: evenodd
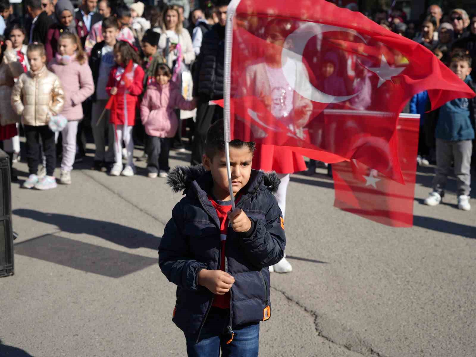
M 210 182 L 210 180 L 211 174 L 203 165 L 177 166 L 169 172 L 167 184 L 174 192 L 180 192 L 190 188 L 194 181 L 199 182 L 198 185 L 203 187 L 203 182 Z M 263 189 L 268 189 L 271 193 L 275 193 L 278 191 L 280 182 L 278 174 L 274 171 L 265 173 L 263 171 L 251 170 L 249 181 L 243 189 L 246 189 L 248 193 L 254 193 L 262 187 Z

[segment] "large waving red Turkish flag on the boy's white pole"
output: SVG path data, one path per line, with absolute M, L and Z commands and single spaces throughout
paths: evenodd
M 433 108 L 475 96 L 428 49 L 325 0 L 233 0 L 228 9 L 231 139 L 356 159 L 403 183 L 405 103 L 423 90 Z

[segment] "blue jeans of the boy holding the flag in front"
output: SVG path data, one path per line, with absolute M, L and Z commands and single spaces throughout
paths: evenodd
M 212 307 L 203 325 L 200 340 L 187 338 L 188 357 L 258 357 L 259 323 L 234 329 L 233 341 L 229 340 L 229 309 Z

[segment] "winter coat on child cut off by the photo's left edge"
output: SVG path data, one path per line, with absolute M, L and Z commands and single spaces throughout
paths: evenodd
M 20 122 L 20 116 L 15 113 L 11 104 L 11 88 L 15 84 L 13 78 L 23 73 L 23 66 L 17 59 L 14 50 L 7 50 L 0 64 L 0 125 Z

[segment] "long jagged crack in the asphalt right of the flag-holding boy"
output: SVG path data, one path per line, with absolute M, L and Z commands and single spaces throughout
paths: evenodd
M 338 333 L 343 338 L 340 338 L 342 341 L 337 341 L 335 338 L 331 337 L 331 333 L 326 334 L 322 324 L 319 323 L 319 320 L 322 320 L 323 317 L 319 316 L 316 311 L 308 309 L 299 301 L 290 297 L 284 290 L 277 289 L 275 287 L 271 287 L 271 289 L 283 294 L 283 296 L 290 302 L 296 304 L 300 309 L 304 310 L 307 314 L 311 315 L 314 318 L 314 328 L 316 329 L 316 333 L 319 337 L 324 338 L 328 342 L 346 348 L 348 351 L 358 353 L 359 355 L 366 356 L 366 357 L 386 357 L 385 355 L 377 352 L 374 350 L 367 342 L 365 342 L 362 338 L 358 336 L 356 332 L 353 332 L 349 329 L 343 328 L 338 322 L 328 320 L 332 329 L 339 329 Z

